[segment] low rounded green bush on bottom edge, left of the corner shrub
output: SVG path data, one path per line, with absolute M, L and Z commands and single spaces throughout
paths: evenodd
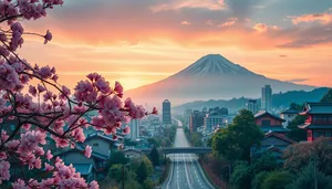
M 268 174 L 261 185 L 261 189 L 286 189 L 294 179 L 294 176 L 288 171 L 273 171 Z

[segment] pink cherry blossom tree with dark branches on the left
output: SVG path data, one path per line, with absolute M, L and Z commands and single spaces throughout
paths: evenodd
M 63 0 L 0 0 L 0 185 L 11 181 L 17 189 L 96 189 L 96 181 L 87 183 L 72 165 L 65 166 L 51 150 L 45 151 L 48 140 L 54 140 L 58 148 L 74 148 L 84 143 L 86 128 L 117 139 L 118 133 L 129 133 L 122 123 L 148 114 L 131 98 L 122 101 L 118 82 L 111 86 L 103 76 L 91 73 L 72 92 L 58 83 L 54 67 L 32 65 L 18 55 L 24 35 L 41 36 L 44 44 L 52 40 L 50 31 L 44 35 L 29 33 L 20 22 L 46 17 L 49 9 L 62 4 Z M 154 108 L 152 114 L 156 113 Z M 90 146 L 82 151 L 86 157 L 91 153 Z M 43 170 L 49 177 L 14 178 L 13 165 Z

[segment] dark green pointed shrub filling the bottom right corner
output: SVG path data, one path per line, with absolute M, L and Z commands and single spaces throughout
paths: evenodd
M 319 189 L 331 189 L 332 188 L 332 177 L 326 176 L 321 171 L 314 175 L 313 165 L 305 167 L 295 177 L 295 180 L 287 187 L 287 189 L 313 189 L 314 178 L 317 178 Z

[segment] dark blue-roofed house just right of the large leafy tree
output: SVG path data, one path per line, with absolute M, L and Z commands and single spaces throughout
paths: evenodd
M 260 156 L 266 151 L 270 151 L 278 161 L 282 161 L 282 155 L 284 149 L 297 141 L 273 132 L 264 134 L 264 138 L 260 141 L 260 146 L 252 146 L 250 148 L 251 157 Z

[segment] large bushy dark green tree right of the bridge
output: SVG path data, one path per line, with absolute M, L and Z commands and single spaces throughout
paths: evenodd
M 263 133 L 250 111 L 242 109 L 234 123 L 212 137 L 214 153 L 232 160 L 250 161 L 250 147 L 260 145 Z

